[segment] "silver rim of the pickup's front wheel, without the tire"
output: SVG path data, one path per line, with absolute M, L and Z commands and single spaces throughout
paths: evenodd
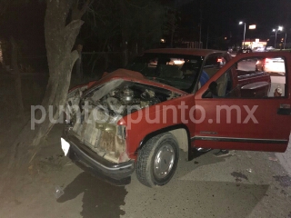
M 157 179 L 165 178 L 172 170 L 175 162 L 175 152 L 170 144 L 163 145 L 156 153 L 154 175 Z

